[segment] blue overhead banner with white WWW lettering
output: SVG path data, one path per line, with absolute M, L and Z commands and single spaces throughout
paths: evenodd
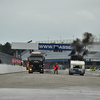
M 58 50 L 71 51 L 70 44 L 53 44 L 53 43 L 39 43 L 38 44 L 38 50 L 54 50 L 55 47 L 58 47 Z

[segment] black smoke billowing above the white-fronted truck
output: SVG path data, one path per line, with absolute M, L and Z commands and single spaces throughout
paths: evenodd
M 74 55 L 76 52 L 78 55 L 83 52 L 83 56 L 88 54 L 88 50 L 83 50 L 84 46 L 92 45 L 94 42 L 94 36 L 91 33 L 85 32 L 83 34 L 82 41 L 80 39 L 76 39 L 71 43 L 72 52 L 71 55 Z

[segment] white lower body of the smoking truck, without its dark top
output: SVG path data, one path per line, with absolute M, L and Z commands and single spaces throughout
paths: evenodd
M 71 60 L 70 61 L 70 68 L 69 68 L 69 75 L 73 74 L 85 74 L 85 62 L 84 61 L 76 61 Z

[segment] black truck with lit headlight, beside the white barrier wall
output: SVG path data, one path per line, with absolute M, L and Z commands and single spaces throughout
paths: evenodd
M 41 52 L 32 52 L 28 57 L 27 68 L 29 73 L 40 72 L 44 73 L 44 56 Z

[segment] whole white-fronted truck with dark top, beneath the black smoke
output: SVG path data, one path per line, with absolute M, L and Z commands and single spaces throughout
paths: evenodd
M 69 75 L 73 74 L 85 74 L 85 62 L 81 55 L 72 55 L 69 60 Z

